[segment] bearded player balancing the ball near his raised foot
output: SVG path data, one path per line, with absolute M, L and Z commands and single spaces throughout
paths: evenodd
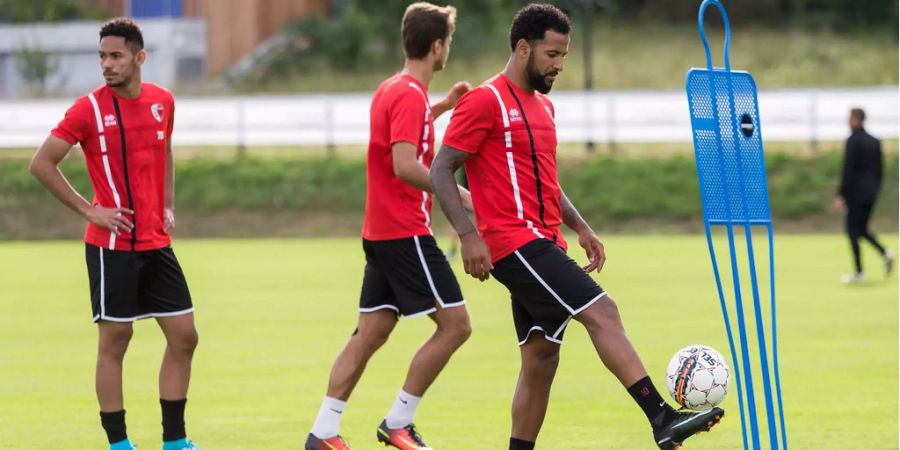
M 615 302 L 588 275 L 603 267 L 606 255 L 560 188 L 554 109 L 544 95 L 563 70 L 569 29 L 569 18 L 554 6 L 519 10 L 506 68 L 460 99 L 432 166 L 431 185 L 460 236 L 466 273 L 481 281 L 493 274 L 511 295 L 522 366 L 510 450 L 534 448 L 571 319 L 585 326 L 600 359 L 644 411 L 659 448 L 678 448 L 724 412 L 677 412 L 666 404 L 629 342 Z M 463 164 L 478 229 L 453 180 Z M 562 223 L 577 233 L 587 253 L 583 268 L 566 255 Z

